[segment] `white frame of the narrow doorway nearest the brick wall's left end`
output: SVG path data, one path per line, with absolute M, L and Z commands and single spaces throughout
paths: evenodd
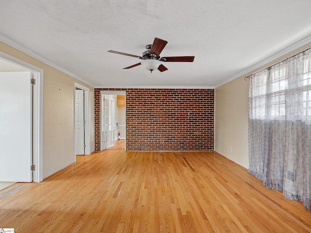
M 76 87 L 78 87 L 81 90 L 84 90 L 84 120 L 86 121 L 85 125 L 84 125 L 84 143 L 86 145 L 86 148 L 84 150 L 84 154 L 90 154 L 90 134 L 89 134 L 89 119 L 90 119 L 90 111 L 89 111 L 89 88 L 79 84 L 79 83 L 74 83 L 74 98 L 73 98 L 73 113 L 74 113 L 74 122 L 76 122 L 75 119 L 75 108 L 76 108 Z M 73 124 L 73 133 L 75 131 L 75 125 Z M 74 134 L 75 135 L 75 134 Z M 74 136 L 75 137 L 75 136 Z M 74 145 L 73 145 L 73 149 L 76 148 L 75 145 L 75 138 L 74 138 Z M 73 157 L 74 157 L 74 162 L 76 162 L 76 155 L 75 155 L 75 150 L 73 150 Z

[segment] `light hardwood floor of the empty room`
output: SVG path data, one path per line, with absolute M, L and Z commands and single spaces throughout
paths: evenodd
M 305 233 L 311 212 L 216 152 L 105 150 L 0 191 L 17 233 Z

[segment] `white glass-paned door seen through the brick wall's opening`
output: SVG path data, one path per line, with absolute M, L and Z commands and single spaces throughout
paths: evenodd
M 114 100 L 102 98 L 102 150 L 113 147 L 115 143 Z

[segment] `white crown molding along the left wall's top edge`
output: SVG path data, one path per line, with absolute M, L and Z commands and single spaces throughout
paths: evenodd
M 17 49 L 17 50 L 19 50 L 19 51 L 21 51 L 23 53 L 26 53 L 27 55 L 29 55 L 29 56 L 31 56 L 31 57 L 33 57 L 33 58 L 35 58 L 35 59 L 37 59 L 37 60 L 39 60 L 39 61 L 41 61 L 41 62 L 43 62 L 43 63 L 45 63 L 47 65 L 49 65 L 49 66 L 51 66 L 51 67 L 53 67 L 53 68 L 55 68 L 55 69 L 57 69 L 59 71 L 62 71 L 65 74 L 68 74 L 69 76 L 71 76 L 71 77 L 73 77 L 73 78 L 75 78 L 75 79 L 77 79 L 77 80 L 79 80 L 79 81 L 81 81 L 83 83 L 86 83 L 87 85 L 90 85 L 91 87 L 94 87 L 94 85 L 92 83 L 89 83 L 89 82 L 83 80 L 82 78 L 78 77 L 77 75 L 69 72 L 67 69 L 52 63 L 48 59 L 42 57 L 41 55 L 35 53 L 32 50 L 29 50 L 29 49 L 25 48 L 24 46 L 22 46 L 22 45 L 18 44 L 17 42 L 15 42 L 15 41 L 5 37 L 2 34 L 0 34 L 0 41 L 5 43 L 5 44 L 7 44 L 7 45 L 9 45 L 9 46 L 11 46 L 11 47 L 13 47 L 14 49 Z

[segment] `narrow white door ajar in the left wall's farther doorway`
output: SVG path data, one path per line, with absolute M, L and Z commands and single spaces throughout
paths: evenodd
M 74 145 L 75 154 L 85 154 L 84 151 L 84 90 L 75 90 L 75 113 L 74 113 Z

